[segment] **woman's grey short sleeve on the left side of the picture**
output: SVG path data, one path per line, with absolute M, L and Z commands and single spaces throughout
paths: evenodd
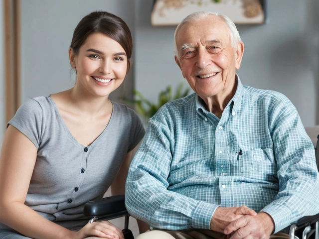
M 43 112 L 39 103 L 33 99 L 27 100 L 15 113 L 15 116 L 7 123 L 11 124 L 21 133 L 27 136 L 32 143 L 39 148 L 41 132 L 43 131 Z

